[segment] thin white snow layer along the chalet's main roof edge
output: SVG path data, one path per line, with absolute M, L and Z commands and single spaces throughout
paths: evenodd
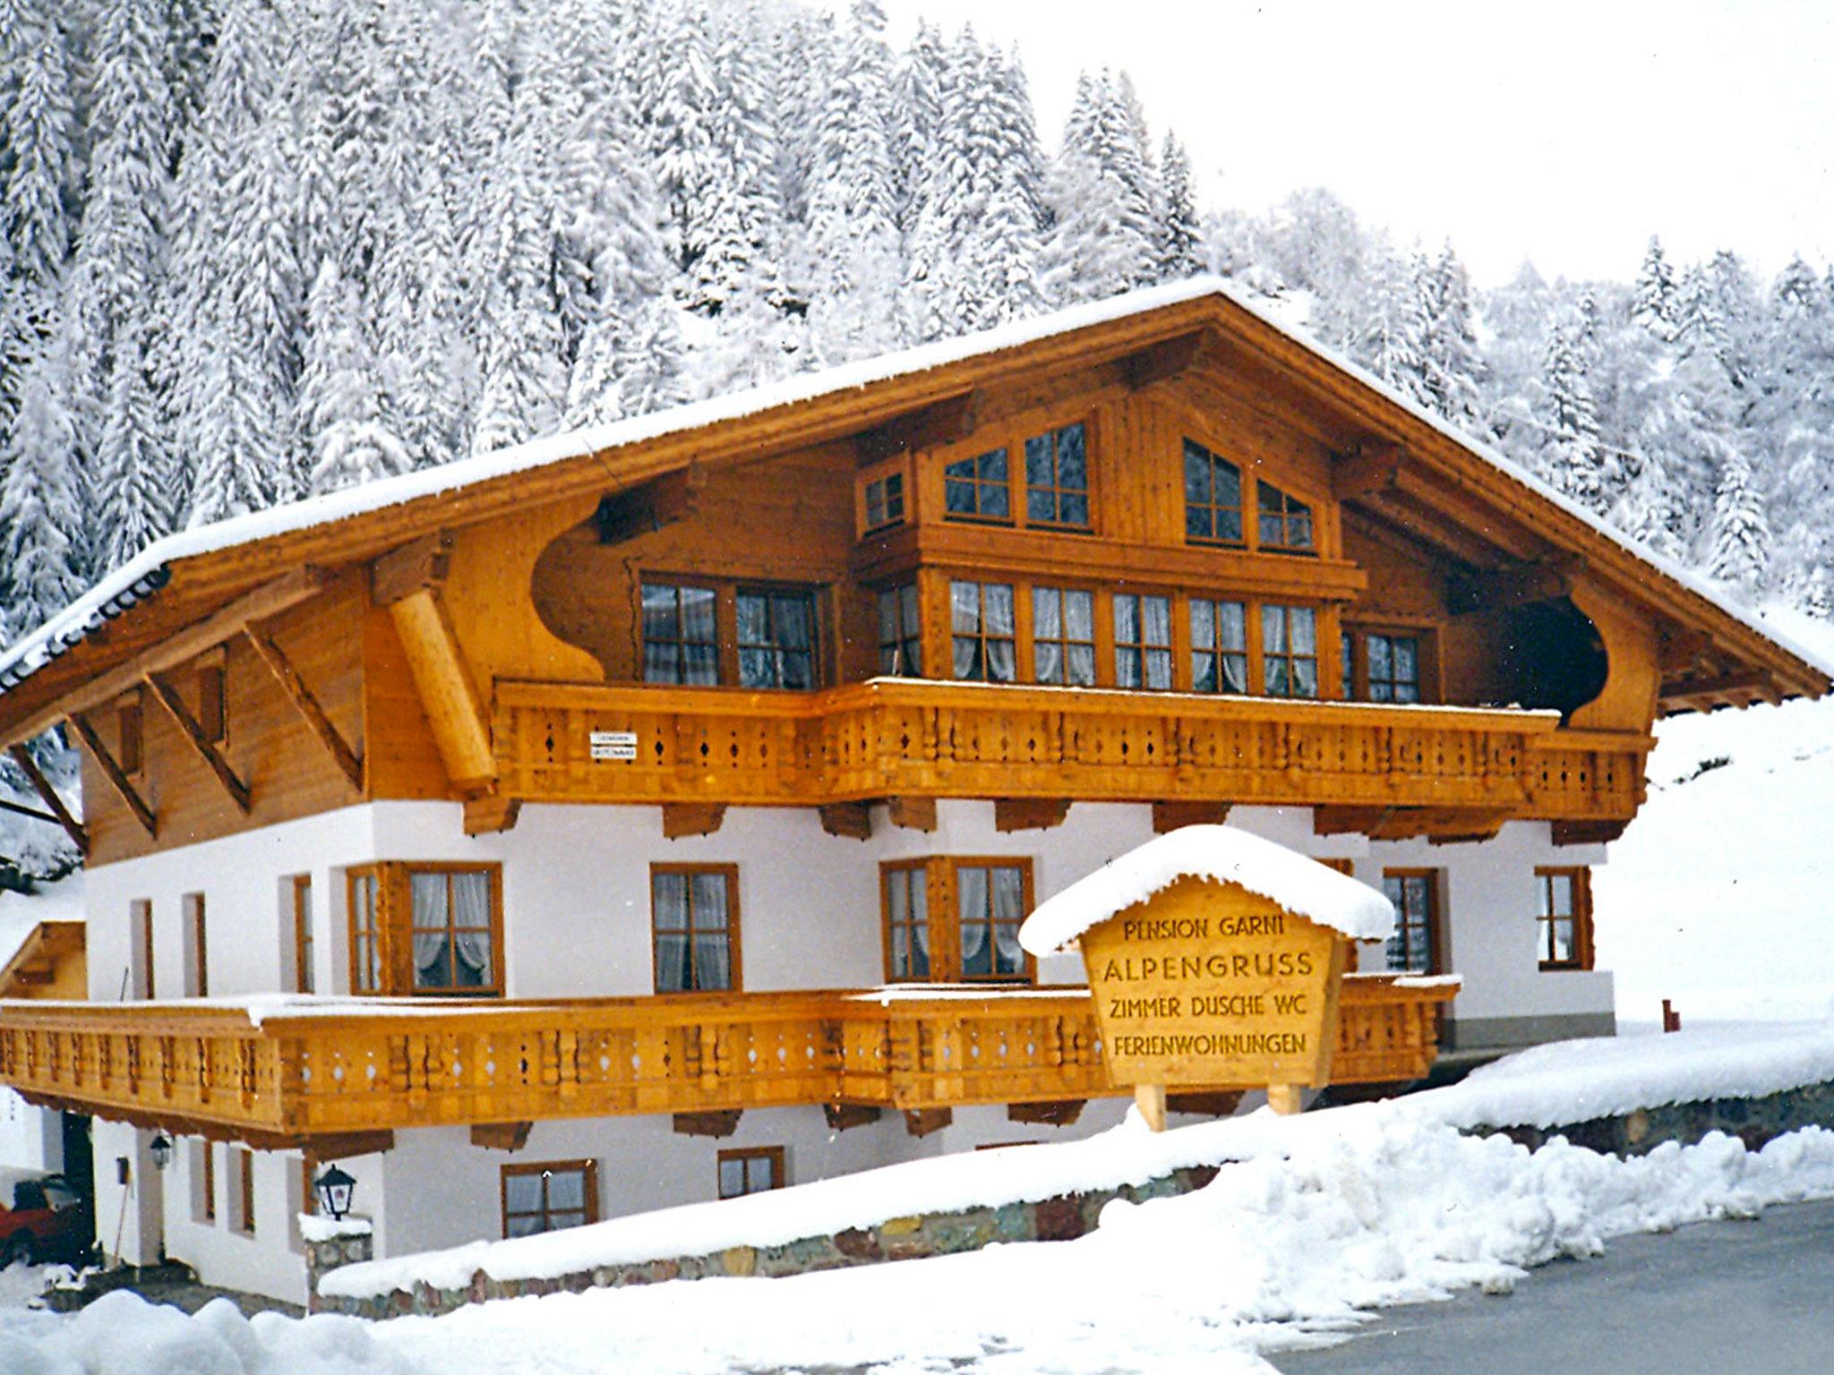
M 171 534 L 154 541 L 132 561 L 108 574 L 103 581 L 99 581 L 84 596 L 77 598 L 77 601 L 53 616 L 42 627 L 17 640 L 6 651 L 0 651 L 0 695 L 37 673 L 75 644 L 88 638 L 136 601 L 154 596 L 169 579 L 172 565 L 183 559 L 216 554 L 242 544 L 255 544 L 275 535 L 328 526 L 391 506 L 403 506 L 440 497 L 490 482 L 493 478 L 514 477 L 569 460 L 591 458 L 607 451 L 658 440 L 669 434 L 682 434 L 719 422 L 754 416 L 778 407 L 789 407 L 844 392 L 862 392 L 875 383 L 889 381 L 893 378 L 904 378 L 952 363 L 965 363 L 1038 343 L 1042 339 L 1073 334 L 1077 330 L 1111 321 L 1146 315 L 1155 310 L 1165 310 L 1168 306 L 1205 297 L 1216 297 L 1232 308 L 1253 315 L 1256 321 L 1280 336 L 1300 343 L 1322 361 L 1342 370 L 1392 405 L 1407 411 L 1420 424 L 1429 425 L 1465 451 L 1506 473 L 1535 497 L 1552 502 L 1575 521 L 1585 522 L 1605 539 L 1641 559 L 1663 578 L 1687 588 L 1695 596 L 1711 603 L 1722 614 L 1737 620 L 1746 629 L 1764 636 L 1803 664 L 1810 666 L 1816 673 L 1834 678 L 1834 664 L 1828 664 L 1812 651 L 1803 649 L 1751 610 L 1728 600 L 1717 585 L 1669 559 L 1663 559 L 1660 554 L 1610 528 L 1596 513 L 1581 508 L 1568 497 L 1541 482 L 1495 447 L 1456 431 L 1445 420 L 1434 416 L 1416 402 L 1364 372 L 1355 363 L 1324 348 L 1309 337 L 1297 336 L 1276 315 L 1238 295 L 1221 279 L 1196 277 L 1185 282 L 1130 292 L 1106 301 L 1069 306 L 1047 315 L 1014 321 L 1011 324 L 981 330 L 956 339 L 943 339 L 893 354 L 882 354 L 878 358 L 796 374 L 765 387 L 712 396 L 702 402 L 691 402 L 609 425 L 592 425 L 563 434 L 550 434 L 539 440 L 530 440 L 528 444 L 499 449 L 497 453 L 460 458 L 438 468 L 403 473 L 400 477 L 369 482 L 359 488 L 348 488 L 345 491 L 334 491 L 323 497 L 312 497 L 308 500 L 290 502 L 286 506 L 275 506 L 251 515 L 231 517 L 227 521 Z

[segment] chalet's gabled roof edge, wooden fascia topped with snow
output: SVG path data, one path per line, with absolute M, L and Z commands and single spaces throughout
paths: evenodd
M 369 559 L 440 528 L 614 493 L 695 464 L 860 434 L 1020 372 L 1135 358 L 1199 332 L 1253 352 L 1302 390 L 1353 416 L 1368 434 L 1398 444 L 1409 464 L 1423 466 L 1436 480 L 1498 512 L 1528 508 L 1552 543 L 1583 557 L 1627 596 L 1761 669 L 1779 695 L 1828 689 L 1834 669 L 1711 583 L 1610 530 L 1355 365 L 1297 337 L 1221 280 L 1199 277 L 167 535 L 0 653 L 0 739 L 48 728 L 59 719 L 62 693 L 128 662 L 171 629 L 204 620 L 301 566 Z M 103 627 L 108 634 L 97 636 Z

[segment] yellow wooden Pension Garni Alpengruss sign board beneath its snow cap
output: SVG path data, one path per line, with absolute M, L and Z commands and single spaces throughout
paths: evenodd
M 1330 1082 L 1344 950 L 1330 926 L 1210 878 L 1091 926 L 1082 961 L 1111 1082 L 1267 1085 L 1293 1104 Z

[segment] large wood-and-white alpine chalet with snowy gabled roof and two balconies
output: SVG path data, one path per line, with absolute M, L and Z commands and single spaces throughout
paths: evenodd
M 1409 1080 L 1608 1034 L 1651 722 L 1827 688 L 1220 284 L 1144 292 L 150 548 L 0 660 L 88 854 L 88 999 L 0 1005 L 0 1082 L 94 1115 L 110 1248 L 293 1300 L 330 1160 L 389 1256 L 1091 1131 L 1020 920 L 1225 814 L 1394 898 L 1333 1076 Z

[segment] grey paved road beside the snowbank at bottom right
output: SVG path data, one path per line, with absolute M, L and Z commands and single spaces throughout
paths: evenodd
M 1834 1203 L 1618 1238 L 1509 1298 L 1387 1309 L 1342 1346 L 1269 1360 L 1287 1375 L 1827 1375 Z

